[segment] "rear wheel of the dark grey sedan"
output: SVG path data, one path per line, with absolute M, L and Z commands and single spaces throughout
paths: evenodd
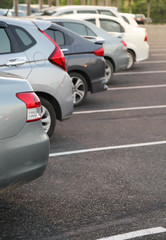
M 87 96 L 88 86 L 85 78 L 76 72 L 69 73 L 73 85 L 73 104 L 80 105 Z

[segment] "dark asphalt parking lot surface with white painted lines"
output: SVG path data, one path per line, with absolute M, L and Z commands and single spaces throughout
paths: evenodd
M 42 177 L 0 195 L 0 240 L 166 239 L 166 25 L 149 59 L 88 94 Z

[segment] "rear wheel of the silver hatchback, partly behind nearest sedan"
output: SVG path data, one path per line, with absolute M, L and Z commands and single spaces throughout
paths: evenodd
M 56 126 L 56 113 L 52 104 L 45 98 L 39 97 L 41 101 L 42 126 L 49 137 L 54 133 Z

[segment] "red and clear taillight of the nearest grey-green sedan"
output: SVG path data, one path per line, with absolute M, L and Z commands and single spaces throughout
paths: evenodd
M 26 104 L 27 122 L 38 121 L 41 119 L 40 99 L 34 92 L 17 93 L 16 96 Z

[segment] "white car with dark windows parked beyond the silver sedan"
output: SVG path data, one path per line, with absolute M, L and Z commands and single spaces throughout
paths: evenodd
M 128 69 L 134 65 L 134 62 L 143 61 L 149 57 L 145 28 L 134 27 L 117 17 L 100 14 L 79 14 L 79 18 L 95 24 L 114 36 L 123 37 L 127 43 Z

